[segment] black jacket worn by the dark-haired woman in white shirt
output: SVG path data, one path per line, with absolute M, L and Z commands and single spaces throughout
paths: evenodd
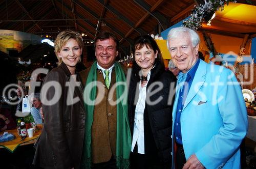
M 149 97 L 148 90 L 154 91 L 158 88 L 154 82 L 161 82 L 163 89 Z M 172 83 L 172 86 L 171 86 Z M 133 135 L 135 107 L 139 95 L 139 78 L 136 77 L 135 71 L 132 71 L 131 82 L 129 85 L 129 120 Z M 147 83 L 146 100 L 157 100 L 162 97 L 161 101 L 150 105 L 146 101 L 144 109 L 144 148 L 147 161 L 152 163 L 165 163 L 172 160 L 172 109 L 175 96 L 176 77 L 170 71 L 165 71 L 156 65 L 151 70 L 151 77 Z M 172 87 L 172 88 L 170 88 Z M 137 90 L 137 92 L 136 92 Z M 168 98 L 172 98 L 169 105 Z

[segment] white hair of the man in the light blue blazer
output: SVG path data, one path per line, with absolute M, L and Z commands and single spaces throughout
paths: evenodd
M 175 27 L 175 28 L 171 29 L 168 32 L 168 36 L 167 36 L 167 48 L 168 48 L 168 50 L 169 50 L 169 40 L 171 38 L 177 38 L 181 34 L 187 34 L 190 37 L 190 40 L 193 44 L 193 47 L 195 47 L 200 42 L 199 35 L 194 30 L 191 30 L 187 27 Z

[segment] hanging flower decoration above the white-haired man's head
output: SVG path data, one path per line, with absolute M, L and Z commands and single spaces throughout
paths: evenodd
M 224 5 L 228 5 L 229 2 L 236 3 L 236 0 L 209 0 L 208 2 L 205 0 L 204 4 L 195 6 L 190 14 L 190 18 L 184 20 L 183 25 L 197 31 L 199 27 L 202 26 L 203 19 L 206 15 L 213 14 L 219 10 L 222 11 L 224 9 Z

